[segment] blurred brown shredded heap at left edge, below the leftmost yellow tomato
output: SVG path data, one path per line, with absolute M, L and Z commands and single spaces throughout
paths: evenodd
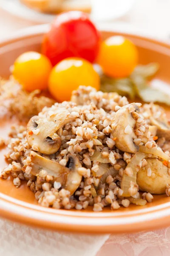
M 5 107 L 11 116 L 17 116 L 20 121 L 26 121 L 45 106 L 51 107 L 53 104 L 54 100 L 41 95 L 40 90 L 28 93 L 12 78 L 9 81 L 0 79 L 0 106 Z

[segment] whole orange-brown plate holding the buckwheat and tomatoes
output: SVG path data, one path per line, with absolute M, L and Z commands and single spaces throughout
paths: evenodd
M 42 35 L 48 30 L 47 25 L 35 26 L 0 44 L 0 76 L 8 78 L 9 67 L 15 58 L 28 50 L 40 51 Z M 103 38 L 117 35 L 118 32 L 102 31 Z M 170 83 L 170 45 L 137 35 L 121 33 L 130 38 L 138 47 L 139 61 L 142 64 L 159 62 L 160 70 L 156 78 Z M 170 114 L 170 109 L 167 113 Z M 13 121 L 10 121 L 11 123 Z M 10 123 L 5 119 L 0 122 L 0 136 L 7 137 Z M 6 149 L 0 151 L 0 164 L 6 163 L 3 157 Z M 144 207 L 130 205 L 111 211 L 93 212 L 89 207 L 83 211 L 55 210 L 37 205 L 33 192 L 23 183 L 15 188 L 12 180 L 0 179 L 0 215 L 24 224 L 53 230 L 81 233 L 125 233 L 161 228 L 170 225 L 170 198 L 156 195 L 152 203 Z

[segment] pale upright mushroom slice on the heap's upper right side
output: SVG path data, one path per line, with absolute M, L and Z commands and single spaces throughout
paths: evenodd
M 116 112 L 111 127 L 112 136 L 116 137 L 116 147 L 122 151 L 134 154 L 139 151 L 139 146 L 135 145 L 133 142 L 133 140 L 136 139 L 136 134 L 134 133 L 136 120 L 133 119 L 132 113 L 128 111 L 130 105 L 135 108 L 135 111 L 139 111 L 135 103 L 125 105 Z M 127 126 L 131 129 L 130 134 L 125 133 Z

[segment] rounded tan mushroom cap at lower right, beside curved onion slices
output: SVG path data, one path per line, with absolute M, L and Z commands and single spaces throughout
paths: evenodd
M 168 168 L 157 158 L 145 158 L 147 166 L 142 167 L 137 173 L 139 189 L 152 194 L 164 194 L 167 184 L 170 184 Z M 151 176 L 147 176 L 147 169 L 152 170 Z

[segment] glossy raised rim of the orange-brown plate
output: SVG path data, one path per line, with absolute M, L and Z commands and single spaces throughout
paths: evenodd
M 34 35 L 41 35 L 47 32 L 49 24 L 31 26 L 26 29 L 21 29 L 17 33 L 0 41 L 0 52 L 8 44 Z M 120 31 L 116 29 L 102 28 L 105 32 L 115 32 L 123 35 L 131 35 L 135 38 L 142 39 L 147 42 L 152 42 L 165 49 L 170 50 L 170 44 L 164 40 L 157 40 L 152 37 L 144 37 L 136 33 Z M 141 209 L 141 211 L 140 211 Z M 153 214 L 154 211 L 154 214 Z M 67 213 L 66 213 L 67 212 Z M 42 227 L 51 230 L 60 230 L 76 233 L 125 233 L 136 232 L 140 230 L 150 230 L 153 228 L 165 227 L 170 224 L 170 201 L 151 208 L 141 207 L 136 210 L 137 214 L 132 214 L 135 211 L 123 211 L 116 215 L 114 212 L 93 212 L 87 213 L 82 211 L 70 212 L 67 210 L 47 209 L 40 206 L 11 198 L 8 195 L 0 193 L 0 216 L 11 219 L 20 223 Z M 158 221 L 159 220 L 159 221 Z

